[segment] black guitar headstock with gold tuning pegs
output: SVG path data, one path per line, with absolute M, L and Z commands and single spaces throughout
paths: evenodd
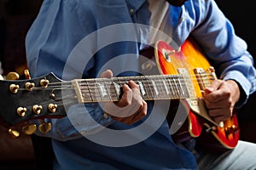
M 37 128 L 43 133 L 50 130 L 51 125 L 44 118 L 60 118 L 67 116 L 61 95 L 63 81 L 53 73 L 42 77 L 31 78 L 25 71 L 26 79 L 11 72 L 6 79 L 0 80 L 0 124 L 9 128 L 15 137 L 20 133 L 32 134 Z M 69 88 L 70 94 L 73 89 Z M 29 121 L 40 119 L 42 124 L 36 127 Z

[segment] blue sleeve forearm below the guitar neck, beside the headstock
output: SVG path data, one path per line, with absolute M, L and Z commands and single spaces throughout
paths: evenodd
M 78 139 L 88 134 L 96 133 L 113 122 L 111 116 L 106 116 L 97 104 L 72 105 L 67 116 L 59 119 L 44 119 L 52 127 L 48 133 L 36 132 L 39 136 L 50 137 L 61 141 Z M 38 126 L 41 121 L 31 121 Z

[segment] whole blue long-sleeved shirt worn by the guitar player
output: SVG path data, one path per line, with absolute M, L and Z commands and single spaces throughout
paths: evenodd
M 93 78 L 105 69 L 133 76 L 140 67 L 137 54 L 148 40 L 149 19 L 145 0 L 44 0 L 26 36 L 32 77 L 54 72 L 63 80 Z M 253 58 L 214 1 L 170 6 L 166 26 L 172 27 L 165 33 L 177 47 L 195 37 L 218 65 L 220 78 L 238 82 L 246 96 L 253 93 Z M 52 123 L 49 133 L 37 134 L 52 138 L 55 169 L 196 169 L 195 157 L 172 141 L 162 118 L 165 107 L 149 103 L 148 112 L 157 116 L 148 114 L 128 126 L 104 116 L 96 103 L 73 105 L 67 117 L 45 120 Z

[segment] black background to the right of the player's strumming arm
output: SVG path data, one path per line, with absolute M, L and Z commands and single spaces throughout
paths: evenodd
M 236 35 L 247 42 L 248 51 L 256 61 L 256 25 L 253 24 L 256 5 L 241 0 L 216 0 L 216 2 L 233 23 Z M 238 110 L 238 116 L 241 128 L 245 129 L 241 132 L 241 138 L 256 142 L 256 134 L 253 132 L 253 129 L 256 129 L 256 93 L 249 97 L 247 105 Z

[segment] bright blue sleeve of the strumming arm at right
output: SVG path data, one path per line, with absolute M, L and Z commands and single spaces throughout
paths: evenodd
M 196 23 L 193 36 L 207 52 L 218 77 L 235 80 L 240 86 L 241 99 L 236 105 L 240 107 L 245 104 L 248 95 L 256 90 L 253 57 L 247 51 L 247 43 L 236 36 L 230 20 L 225 18 L 217 4 L 212 0 L 201 3 L 205 8 L 198 8 L 201 21 Z

